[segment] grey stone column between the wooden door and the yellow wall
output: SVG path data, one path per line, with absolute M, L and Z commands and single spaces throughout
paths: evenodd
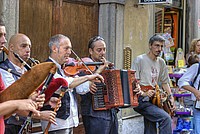
M 107 44 L 107 59 L 123 67 L 125 0 L 99 0 L 99 35 Z

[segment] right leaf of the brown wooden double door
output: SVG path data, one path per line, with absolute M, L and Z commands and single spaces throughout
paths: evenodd
M 88 0 L 87 2 L 65 1 L 62 8 L 63 26 L 61 33 L 69 36 L 72 47 L 79 56 L 87 56 L 87 43 L 92 36 L 98 34 L 97 0 Z

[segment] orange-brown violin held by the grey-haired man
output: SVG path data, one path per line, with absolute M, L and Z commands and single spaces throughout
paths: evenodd
M 86 73 L 88 71 L 93 72 L 95 71 L 97 65 L 103 64 L 103 62 L 93 62 L 92 59 L 87 57 L 81 58 L 81 61 L 70 58 L 68 63 L 64 63 L 62 65 L 62 69 L 64 70 L 65 75 L 74 76 L 81 71 L 85 71 Z

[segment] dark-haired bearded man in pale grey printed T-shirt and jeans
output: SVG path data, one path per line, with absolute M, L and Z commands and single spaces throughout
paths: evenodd
M 136 79 L 140 80 L 141 90 L 143 90 L 142 96 L 139 97 L 139 106 L 134 110 L 144 116 L 145 134 L 157 134 L 158 131 L 160 134 L 172 134 L 170 115 L 152 104 L 157 84 L 162 85 L 171 103 L 174 104 L 167 67 L 165 61 L 159 57 L 164 43 L 165 39 L 162 36 L 152 36 L 149 40 L 149 52 L 136 57 L 132 64 L 132 69 L 136 70 Z M 152 88 L 147 90 L 143 88 L 147 86 Z

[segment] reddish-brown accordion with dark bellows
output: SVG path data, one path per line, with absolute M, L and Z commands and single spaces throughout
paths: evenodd
M 138 106 L 134 70 L 104 70 L 104 83 L 96 83 L 97 92 L 92 96 L 94 110 L 113 107 Z

